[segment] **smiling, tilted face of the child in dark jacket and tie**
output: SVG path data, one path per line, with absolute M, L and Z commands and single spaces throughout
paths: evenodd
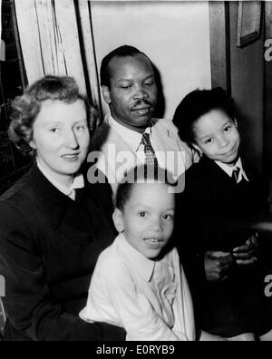
M 195 147 L 211 160 L 231 164 L 238 159 L 240 136 L 237 123 L 226 113 L 213 110 L 194 125 Z

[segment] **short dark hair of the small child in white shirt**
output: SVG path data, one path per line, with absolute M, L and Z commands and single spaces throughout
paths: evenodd
M 169 170 L 152 165 L 137 166 L 129 170 L 119 184 L 115 197 L 115 208 L 123 210 L 131 197 L 133 186 L 137 183 L 147 183 L 150 180 L 154 181 L 154 183 L 162 183 L 170 187 L 177 185 L 177 181 Z

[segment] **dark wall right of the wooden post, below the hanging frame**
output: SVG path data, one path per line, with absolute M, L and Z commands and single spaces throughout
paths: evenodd
M 238 2 L 229 3 L 231 92 L 240 112 L 245 158 L 263 170 L 264 29 L 259 40 L 238 48 Z

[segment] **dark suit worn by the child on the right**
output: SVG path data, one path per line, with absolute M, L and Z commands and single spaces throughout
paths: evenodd
M 214 332 L 219 335 L 238 335 L 249 329 L 252 331 L 248 323 L 248 326 L 243 323 L 239 326 L 240 318 L 233 313 L 234 310 L 238 313 L 241 308 L 246 308 L 245 301 L 251 299 L 250 306 L 255 306 L 257 311 L 260 303 L 258 298 L 263 296 L 261 284 L 264 277 L 258 263 L 254 266 L 235 266 L 228 279 L 218 284 L 208 283 L 204 270 L 206 251 L 231 253 L 235 247 L 246 244 L 247 239 L 255 232 L 254 224 L 266 217 L 266 185 L 256 172 L 246 166 L 244 169 L 249 181 L 243 180 L 235 184 L 213 160 L 203 156 L 198 164 L 194 164 L 186 172 L 185 191 L 179 199 L 182 216 L 180 222 L 183 226 L 182 231 L 180 230 L 183 234 L 179 243 L 180 257 L 195 298 L 197 312 L 201 316 L 207 314 L 204 329 L 212 331 L 213 325 L 220 324 L 222 326 L 219 330 L 224 329 L 226 320 L 227 332 Z M 220 323 L 219 312 L 222 308 L 226 310 Z M 247 313 L 243 316 L 247 316 Z M 248 317 L 251 318 L 250 315 Z M 228 320 L 232 323 L 228 323 Z

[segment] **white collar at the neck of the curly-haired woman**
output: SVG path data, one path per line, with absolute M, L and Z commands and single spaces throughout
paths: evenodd
M 44 177 L 49 180 L 50 183 L 53 184 L 53 186 L 60 190 L 65 196 L 68 196 L 70 199 L 75 199 L 75 189 L 83 189 L 84 188 L 84 178 L 83 174 L 77 174 L 74 179 L 72 186 L 70 188 L 63 186 L 62 183 L 59 183 L 53 177 L 51 174 L 44 168 L 43 164 L 40 160 L 37 159 L 37 166 L 38 169 L 43 173 Z

